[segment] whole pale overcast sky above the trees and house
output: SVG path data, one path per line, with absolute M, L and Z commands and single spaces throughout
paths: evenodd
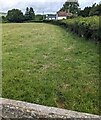
M 37 1 L 37 2 L 36 2 Z M 0 0 L 0 12 L 7 12 L 13 8 L 18 8 L 25 12 L 26 7 L 33 7 L 35 13 L 55 13 L 65 3 L 66 0 Z M 80 8 L 99 3 L 101 0 L 78 0 Z

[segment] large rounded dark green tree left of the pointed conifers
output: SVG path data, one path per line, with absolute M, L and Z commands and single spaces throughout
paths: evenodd
M 7 20 L 9 22 L 22 22 L 24 20 L 23 13 L 19 9 L 9 10 L 7 13 Z

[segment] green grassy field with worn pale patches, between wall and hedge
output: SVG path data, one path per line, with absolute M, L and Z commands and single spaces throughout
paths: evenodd
M 2 96 L 98 114 L 99 47 L 59 26 L 3 24 Z

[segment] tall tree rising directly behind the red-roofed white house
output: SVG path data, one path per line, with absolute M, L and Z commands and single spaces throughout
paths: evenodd
M 79 3 L 77 0 L 67 0 L 60 11 L 66 11 L 73 14 L 78 14 L 79 12 Z

